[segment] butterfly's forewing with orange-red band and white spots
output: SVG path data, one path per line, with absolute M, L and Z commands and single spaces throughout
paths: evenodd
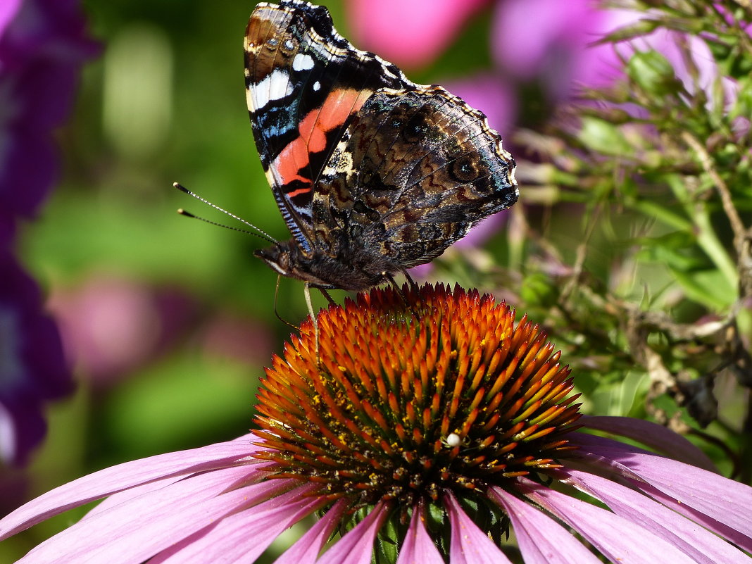
M 277 205 L 299 243 L 312 233 L 312 186 L 347 120 L 384 86 L 414 85 L 338 35 L 326 8 L 259 4 L 245 38 L 253 136 Z

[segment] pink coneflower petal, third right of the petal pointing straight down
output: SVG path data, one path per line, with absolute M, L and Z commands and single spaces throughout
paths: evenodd
M 520 479 L 519 487 L 529 499 L 579 532 L 611 562 L 696 564 L 669 541 L 611 511 L 529 480 Z

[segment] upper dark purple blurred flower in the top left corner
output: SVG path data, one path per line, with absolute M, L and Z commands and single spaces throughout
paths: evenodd
M 80 66 L 97 52 L 77 0 L 0 8 L 0 222 L 33 217 L 57 175 L 52 132 L 71 110 Z

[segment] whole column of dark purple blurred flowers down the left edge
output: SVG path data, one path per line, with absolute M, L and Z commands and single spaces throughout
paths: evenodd
M 17 220 L 33 217 L 53 187 L 53 129 L 94 53 L 77 0 L 0 3 L 0 458 L 14 464 L 44 437 L 43 403 L 72 381 L 38 287 L 9 249 Z

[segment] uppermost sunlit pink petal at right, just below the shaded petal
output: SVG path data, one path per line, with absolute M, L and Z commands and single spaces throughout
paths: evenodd
M 635 487 L 651 496 L 653 493 L 641 481 L 655 487 L 675 500 L 672 504 L 668 499 L 660 499 L 664 505 L 672 505 L 676 511 L 689 515 L 744 550 L 752 550 L 752 487 L 610 438 L 576 435 L 573 442 L 578 444 L 580 453 L 636 478 Z M 710 518 L 687 513 L 689 510 Z

